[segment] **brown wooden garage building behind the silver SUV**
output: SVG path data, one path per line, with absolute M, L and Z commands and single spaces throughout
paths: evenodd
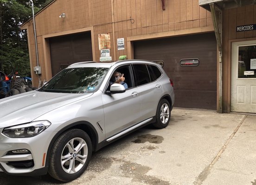
M 256 77 L 248 75 L 255 71 L 249 68 L 254 56 L 244 56 L 256 45 L 256 5 L 240 2 L 52 0 L 34 17 L 38 65 L 32 19 L 21 26 L 28 34 L 33 84 L 50 80 L 71 63 L 127 56 L 164 61 L 175 107 L 256 113 Z M 233 59 L 237 64 L 231 65 Z M 243 67 L 231 68 L 238 64 Z M 237 70 L 249 72 L 239 79 Z

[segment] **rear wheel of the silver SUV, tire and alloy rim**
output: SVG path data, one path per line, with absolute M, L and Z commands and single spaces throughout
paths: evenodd
M 166 99 L 162 99 L 156 111 L 156 122 L 153 123 L 153 126 L 162 129 L 165 128 L 170 121 L 171 118 L 171 106 Z

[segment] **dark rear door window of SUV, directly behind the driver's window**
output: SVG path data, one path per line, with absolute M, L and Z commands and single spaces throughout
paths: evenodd
M 135 74 L 135 86 L 141 86 L 150 82 L 146 64 L 133 64 Z

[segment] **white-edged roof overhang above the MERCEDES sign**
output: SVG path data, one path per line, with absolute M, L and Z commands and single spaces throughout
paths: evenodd
M 256 5 L 256 0 L 199 0 L 199 6 L 211 11 L 210 4 L 214 3 L 215 7 L 220 9 L 237 8 L 247 5 Z

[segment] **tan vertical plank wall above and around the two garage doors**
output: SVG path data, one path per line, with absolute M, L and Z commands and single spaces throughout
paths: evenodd
M 115 48 L 113 45 L 112 6 L 114 7 L 115 40 L 125 39 L 124 50 L 117 50 L 116 44 Z M 65 13 L 65 18 L 59 18 L 62 13 Z M 200 7 L 198 0 L 165 0 L 165 10 L 162 10 L 161 0 L 55 0 L 36 14 L 35 20 L 42 80 L 45 79 L 45 71 L 49 70 L 44 64 L 45 51 L 42 40 L 44 35 L 93 26 L 92 42 L 95 46 L 93 48 L 96 54 L 95 60 L 98 61 L 100 57 L 98 34 L 110 33 L 110 56 L 114 58 L 113 49 L 115 49 L 118 59 L 119 56 L 128 55 L 127 37 L 212 26 L 211 13 Z M 29 33 L 30 58 L 34 67 L 36 56 L 32 20 L 24 27 Z M 32 78 L 38 77 L 32 73 Z M 33 81 L 37 86 L 38 80 Z

